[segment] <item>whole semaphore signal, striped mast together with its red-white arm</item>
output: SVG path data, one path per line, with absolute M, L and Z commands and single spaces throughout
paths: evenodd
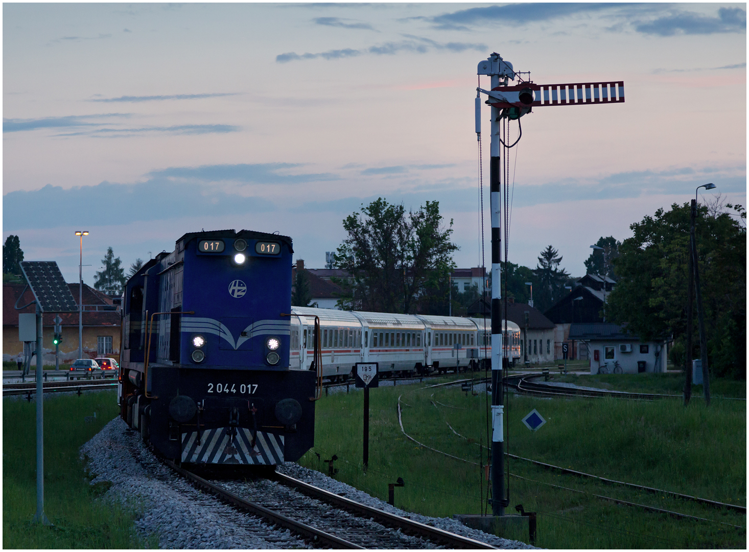
M 556 85 L 537 85 L 530 80 L 530 72 L 520 73 L 509 61 L 494 52 L 479 63 L 481 75 L 491 77 L 491 90 L 476 88 L 476 136 L 481 139 L 481 94 L 486 94 L 485 103 L 491 106 L 491 510 L 493 515 L 504 515 L 509 506 L 505 496 L 504 480 L 504 384 L 502 352 L 502 314 L 500 311 L 500 181 L 509 174 L 507 150 L 516 145 L 522 136 L 520 118 L 532 112 L 534 107 L 547 106 L 592 106 L 596 103 L 623 103 L 624 82 L 572 82 Z M 528 76 L 521 79 L 521 74 Z M 518 79 L 518 84 L 510 81 Z M 507 123 L 518 121 L 520 136 L 512 143 L 506 133 Z M 500 124 L 505 122 L 500 129 Z M 505 135 L 505 140 L 500 137 Z M 502 148 L 500 149 L 500 145 Z M 500 156 L 500 151 L 504 154 Z M 500 172 L 500 160 L 503 171 Z M 505 213 L 507 214 L 507 213 Z M 505 222 L 507 216 L 505 216 Z M 505 255 L 506 256 L 506 255 Z M 527 347 L 527 343 L 524 343 Z

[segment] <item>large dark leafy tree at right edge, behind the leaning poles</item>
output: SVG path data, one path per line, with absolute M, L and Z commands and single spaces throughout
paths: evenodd
M 726 207 L 729 207 L 728 205 Z M 718 376 L 746 377 L 746 211 L 715 213 L 697 207 L 697 262 L 702 282 L 708 366 Z M 607 298 L 610 320 L 643 340 L 673 340 L 671 360 L 681 365 L 688 332 L 699 358 L 697 316 L 687 327 L 691 207 L 673 204 L 630 225 L 614 261 L 618 283 Z M 736 218 L 732 218 L 732 215 Z M 696 312 L 696 309 L 695 309 Z

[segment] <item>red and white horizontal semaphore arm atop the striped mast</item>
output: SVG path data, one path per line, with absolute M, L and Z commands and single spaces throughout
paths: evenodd
M 533 90 L 533 102 L 523 103 L 520 94 L 524 90 Z M 491 102 L 491 106 L 508 107 L 542 107 L 542 106 L 580 106 L 594 103 L 623 103 L 624 82 L 571 82 L 557 85 L 537 85 L 531 82 L 514 86 L 497 86 L 492 91 L 500 92 L 507 102 Z

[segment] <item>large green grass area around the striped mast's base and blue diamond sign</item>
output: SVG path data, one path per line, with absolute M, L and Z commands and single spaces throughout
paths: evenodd
M 613 374 L 612 374 L 613 375 Z M 369 469 L 362 466 L 363 393 L 330 395 L 317 404 L 315 449 L 300 464 L 386 500 L 387 484 L 402 477 L 395 506 L 425 515 L 479 513 L 485 508 L 485 397 L 425 384 L 372 389 Z M 405 431 L 457 461 L 407 440 L 398 425 L 402 395 Z M 441 403 L 441 404 L 440 404 Z M 529 431 L 522 416 L 533 408 L 548 420 Z M 715 401 L 509 398 L 509 452 L 587 473 L 668 491 L 746 503 L 746 405 Z M 462 437 L 454 434 L 448 424 Z M 321 458 L 315 455 L 321 455 Z M 510 509 L 539 512 L 538 546 L 545 548 L 745 548 L 746 516 L 671 497 L 640 493 L 546 471 L 511 460 Z M 527 479 L 520 479 L 521 476 Z M 532 479 L 533 481 L 529 481 Z M 584 491 L 580 494 L 548 484 Z M 601 494 L 712 521 L 679 520 L 592 497 Z M 527 536 L 523 537 L 527 541 Z

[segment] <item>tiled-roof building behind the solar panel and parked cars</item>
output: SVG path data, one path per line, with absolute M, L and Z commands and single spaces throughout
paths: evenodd
M 68 284 L 70 293 L 78 303 L 79 285 Z M 23 343 L 18 340 L 18 315 L 20 313 L 34 313 L 32 304 L 25 309 L 16 310 L 16 301 L 24 306 L 34 300 L 31 290 L 25 289 L 24 284 L 3 284 L 2 301 L 2 353 L 3 360 L 14 360 L 19 353 L 23 353 Z M 112 297 L 97 291 L 88 285 L 83 285 L 83 356 L 96 358 L 100 355 L 119 358 L 120 354 L 120 307 L 115 305 Z M 21 294 L 23 296 L 20 298 Z M 55 313 L 44 314 L 43 347 L 44 363 L 55 363 L 55 346 L 52 337 L 55 333 Z M 62 318 L 62 342 L 60 344 L 60 362 L 67 363 L 78 357 L 78 313 L 65 312 L 59 314 Z M 31 348 L 36 346 L 32 344 Z

